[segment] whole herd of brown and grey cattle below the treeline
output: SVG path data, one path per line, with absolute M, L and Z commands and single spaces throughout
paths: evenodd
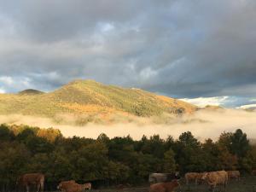
M 256 175 L 256 170 L 253 171 Z M 214 191 L 217 185 L 222 185 L 224 191 L 229 179 L 239 180 L 241 177 L 239 171 L 218 171 L 218 172 L 188 172 L 185 174 L 186 184 L 190 183 L 198 185 L 200 183 L 207 183 L 209 187 Z M 172 192 L 178 186 L 180 186 L 178 172 L 174 173 L 152 173 L 149 175 L 150 187 L 149 192 Z M 35 186 L 37 192 L 44 191 L 44 174 L 41 173 L 26 173 L 17 179 L 18 186 L 26 189 L 26 192 L 30 191 L 32 186 Z M 82 192 L 84 190 L 90 190 L 92 188 L 91 183 L 79 184 L 74 180 L 61 181 L 58 184 L 57 189 L 61 192 Z

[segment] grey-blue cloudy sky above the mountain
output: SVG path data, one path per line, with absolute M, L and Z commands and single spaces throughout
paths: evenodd
M 73 79 L 256 103 L 255 0 L 0 0 L 0 92 Z

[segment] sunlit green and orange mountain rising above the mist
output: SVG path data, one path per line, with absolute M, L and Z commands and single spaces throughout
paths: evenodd
M 23 90 L 18 94 L 0 94 L 0 114 L 55 117 L 59 113 L 71 113 L 106 118 L 118 113 L 149 117 L 162 113 L 193 113 L 196 109 L 194 105 L 167 96 L 93 80 L 75 80 L 49 93 Z

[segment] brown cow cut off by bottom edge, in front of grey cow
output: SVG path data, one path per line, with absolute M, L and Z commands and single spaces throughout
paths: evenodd
M 154 183 L 150 185 L 149 192 L 172 192 L 177 186 L 179 186 L 177 179 L 172 182 Z

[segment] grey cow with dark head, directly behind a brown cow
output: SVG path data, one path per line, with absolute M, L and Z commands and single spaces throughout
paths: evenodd
M 148 177 L 149 183 L 163 183 L 163 182 L 170 182 L 173 179 L 179 179 L 178 172 L 172 173 L 151 173 Z

